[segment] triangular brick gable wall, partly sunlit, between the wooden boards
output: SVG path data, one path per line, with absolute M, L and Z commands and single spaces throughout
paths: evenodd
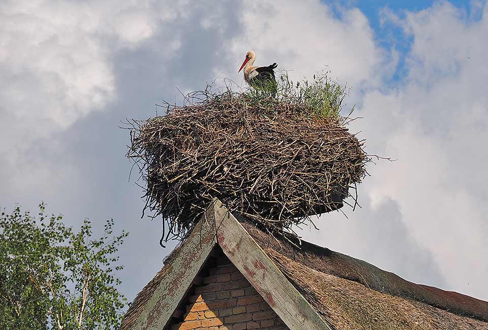
M 181 319 L 169 329 L 288 330 L 223 252 L 210 264 L 181 306 Z

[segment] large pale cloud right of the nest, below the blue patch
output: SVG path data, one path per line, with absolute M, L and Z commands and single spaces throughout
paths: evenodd
M 372 203 L 398 203 L 447 289 L 487 299 L 488 45 L 480 42 L 488 31 L 486 7 L 480 20 L 446 2 L 386 19 L 413 38 L 407 75 L 393 90 L 365 93 L 360 113 L 366 119 L 356 127 L 370 152 L 398 161 L 371 167 L 363 189 Z

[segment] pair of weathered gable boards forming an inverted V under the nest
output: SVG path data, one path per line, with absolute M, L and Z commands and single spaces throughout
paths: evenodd
M 219 244 L 234 266 L 291 330 L 329 329 L 246 229 L 217 199 L 173 257 L 170 270 L 139 315 L 135 329 L 162 330 L 212 248 Z

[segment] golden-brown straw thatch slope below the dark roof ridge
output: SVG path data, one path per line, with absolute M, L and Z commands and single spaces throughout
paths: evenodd
M 331 329 L 486 329 L 488 323 L 381 293 L 313 270 L 267 249 L 278 268 L 322 315 Z

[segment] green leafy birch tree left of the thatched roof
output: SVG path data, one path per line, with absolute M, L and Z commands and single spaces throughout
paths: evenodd
M 113 235 L 113 220 L 93 238 L 62 216 L 38 217 L 16 207 L 0 216 L 0 328 L 91 330 L 117 328 L 126 299 L 118 291 L 123 266 L 117 250 L 128 233 Z

